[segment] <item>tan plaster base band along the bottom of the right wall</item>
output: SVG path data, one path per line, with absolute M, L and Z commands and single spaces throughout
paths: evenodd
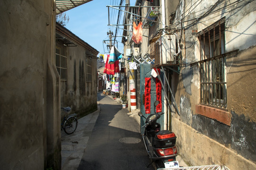
M 225 165 L 230 170 L 254 170 L 256 164 L 240 156 L 229 146 L 222 145 L 194 128 L 172 119 L 172 130 L 179 136 L 179 153 L 189 165 Z M 190 156 L 189 156 L 190 155 Z

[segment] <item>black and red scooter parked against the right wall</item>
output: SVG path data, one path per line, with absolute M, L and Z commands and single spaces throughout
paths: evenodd
M 158 101 L 154 103 L 154 107 L 158 105 Z M 176 161 L 178 153 L 178 146 L 176 146 L 176 136 L 169 130 L 161 130 L 161 126 L 157 123 L 157 119 L 161 117 L 164 112 L 150 114 L 145 118 L 142 112 L 138 115 L 146 119 L 145 131 L 143 140 L 147 153 L 155 162 L 156 168 L 179 168 L 179 162 Z M 149 166 L 149 165 L 148 165 Z

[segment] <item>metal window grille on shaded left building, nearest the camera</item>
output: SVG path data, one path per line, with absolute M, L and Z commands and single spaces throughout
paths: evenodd
M 55 63 L 62 81 L 67 80 L 67 50 L 67 46 L 56 42 Z

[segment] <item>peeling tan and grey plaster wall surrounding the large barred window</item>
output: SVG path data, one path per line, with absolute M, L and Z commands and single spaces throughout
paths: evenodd
M 188 5 L 186 8 L 195 7 Z M 198 17 L 217 2 L 204 1 L 196 8 L 198 13 L 187 11 L 186 19 Z M 230 170 L 256 168 L 256 2 L 245 0 L 230 5 L 235 0 L 226 0 L 213 10 L 221 8 L 212 16 L 206 16 L 197 25 L 185 22 L 186 49 L 182 50 L 181 74 L 172 75 L 172 89 L 180 116 L 173 114 L 172 131 L 178 136 L 180 153 L 191 165 L 221 164 Z M 212 6 L 211 6 L 212 5 Z M 230 6 L 229 6 L 230 5 Z M 223 8 L 227 6 L 228 8 Z M 239 7 L 239 8 L 238 8 Z M 201 10 L 204 9 L 204 10 Z M 225 52 L 238 49 L 239 52 L 227 56 L 227 110 L 231 115 L 231 125 L 224 125 L 214 119 L 196 114 L 199 104 L 199 68 L 190 67 L 190 63 L 200 59 L 196 32 L 226 17 Z M 175 109 L 173 109 L 175 110 Z M 176 119 L 177 118 L 177 119 Z

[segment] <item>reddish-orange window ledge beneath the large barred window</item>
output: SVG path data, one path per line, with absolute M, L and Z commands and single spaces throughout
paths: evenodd
M 198 104 L 196 105 L 196 114 L 217 120 L 228 126 L 231 124 L 231 114 L 228 111 Z

